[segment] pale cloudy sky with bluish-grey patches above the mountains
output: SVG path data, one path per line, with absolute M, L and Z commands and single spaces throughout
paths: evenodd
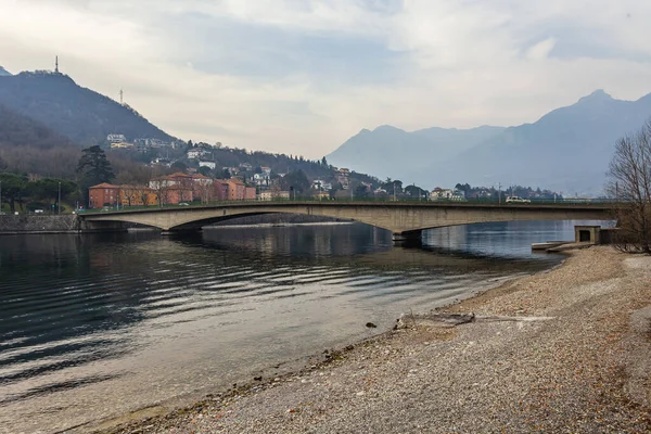
M 0 65 L 184 140 L 320 158 L 360 129 L 512 126 L 651 92 L 639 0 L 0 0 Z

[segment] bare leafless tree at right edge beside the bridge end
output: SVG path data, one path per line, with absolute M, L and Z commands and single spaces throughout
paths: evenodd
M 617 140 L 610 163 L 608 190 L 617 200 L 616 245 L 651 254 L 651 120 Z

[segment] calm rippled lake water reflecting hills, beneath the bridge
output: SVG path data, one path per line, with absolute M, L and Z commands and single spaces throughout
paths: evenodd
M 2 237 L 0 432 L 218 392 L 550 268 L 562 256 L 531 244 L 572 240 L 573 225 L 444 228 L 418 248 L 362 225 Z

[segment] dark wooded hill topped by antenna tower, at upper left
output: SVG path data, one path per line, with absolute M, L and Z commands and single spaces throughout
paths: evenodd
M 24 72 L 0 76 L 0 104 L 84 146 L 101 143 L 110 133 L 125 135 L 127 140 L 175 140 L 126 104 L 82 88 L 64 74 Z

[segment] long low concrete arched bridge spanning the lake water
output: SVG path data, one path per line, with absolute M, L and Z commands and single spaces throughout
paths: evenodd
M 390 230 L 394 240 L 420 238 L 421 231 L 446 226 L 523 220 L 610 220 L 612 204 L 496 204 L 473 202 L 239 202 L 208 206 L 144 208 L 79 215 L 82 229 L 102 230 L 138 224 L 163 231 L 200 230 L 215 222 L 261 214 L 285 213 L 359 221 Z

